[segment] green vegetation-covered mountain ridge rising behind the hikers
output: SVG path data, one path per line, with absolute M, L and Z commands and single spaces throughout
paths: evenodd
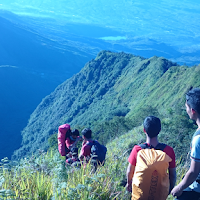
M 200 66 L 178 66 L 163 57 L 101 51 L 42 100 L 22 131 L 22 147 L 13 158 L 47 150 L 48 138 L 62 123 L 89 126 L 104 143 L 140 125 L 150 114 L 165 119 L 166 131 L 170 132 L 168 123 L 181 119 L 193 130 L 181 107 L 185 92 L 200 86 L 199 71 Z

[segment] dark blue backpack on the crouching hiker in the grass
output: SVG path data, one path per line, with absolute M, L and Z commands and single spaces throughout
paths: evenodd
M 91 158 L 96 160 L 99 165 L 104 165 L 107 148 L 96 140 L 89 142 L 89 145 L 91 145 Z

